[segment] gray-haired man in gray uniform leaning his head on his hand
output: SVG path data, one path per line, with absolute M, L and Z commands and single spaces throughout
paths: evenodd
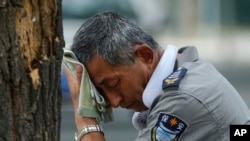
M 250 111 L 233 86 L 195 47 L 162 49 L 127 18 L 104 12 L 87 19 L 74 36 L 72 51 L 110 106 L 136 111 L 136 141 L 228 141 L 230 124 L 250 124 Z M 66 70 L 77 111 L 80 78 Z M 94 118 L 75 114 L 81 141 L 102 141 L 91 132 Z M 99 130 L 98 130 L 99 131 Z

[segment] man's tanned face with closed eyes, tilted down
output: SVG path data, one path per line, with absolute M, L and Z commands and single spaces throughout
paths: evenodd
M 100 55 L 94 55 L 86 68 L 96 88 L 112 107 L 146 109 L 142 93 L 150 78 L 150 69 L 141 59 L 136 58 L 133 65 L 112 66 Z

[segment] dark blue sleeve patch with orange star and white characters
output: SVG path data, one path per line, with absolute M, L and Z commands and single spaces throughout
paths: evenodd
M 171 114 L 160 113 L 151 130 L 152 141 L 178 141 L 188 127 L 187 123 Z

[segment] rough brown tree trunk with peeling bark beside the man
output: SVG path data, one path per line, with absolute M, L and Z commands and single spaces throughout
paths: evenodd
M 0 0 L 0 141 L 60 140 L 61 0 Z

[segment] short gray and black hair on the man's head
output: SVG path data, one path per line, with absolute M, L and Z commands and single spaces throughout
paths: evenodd
M 95 54 L 110 64 L 133 64 L 134 46 L 147 44 L 153 50 L 157 42 L 128 18 L 103 12 L 87 19 L 76 32 L 72 51 L 83 64 Z

